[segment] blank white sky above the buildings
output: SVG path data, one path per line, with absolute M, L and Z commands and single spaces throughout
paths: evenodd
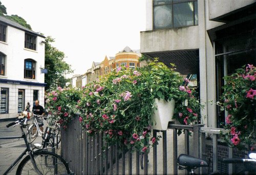
M 33 31 L 54 38 L 52 45 L 65 53 L 74 74 L 86 73 L 93 61 L 126 46 L 140 49 L 140 31 L 146 27 L 146 0 L 0 1 L 8 15 L 21 16 Z

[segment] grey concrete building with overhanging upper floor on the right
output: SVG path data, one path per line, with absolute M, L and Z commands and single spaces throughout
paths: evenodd
M 225 114 L 209 103 L 219 100 L 222 77 L 247 63 L 255 65 L 255 2 L 146 1 L 140 52 L 197 78 L 206 103 L 202 122 L 208 127 L 225 122 Z

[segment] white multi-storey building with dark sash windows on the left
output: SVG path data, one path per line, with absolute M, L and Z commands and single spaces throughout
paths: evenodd
M 39 100 L 44 106 L 45 36 L 0 16 L 0 119 L 14 118 Z

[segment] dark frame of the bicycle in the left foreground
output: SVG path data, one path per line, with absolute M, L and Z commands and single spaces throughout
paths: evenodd
M 26 149 L 22 152 L 22 154 L 13 162 L 13 164 L 10 165 L 10 167 L 4 172 L 4 175 L 8 174 L 15 166 L 16 164 L 23 158 L 24 155 L 26 155 L 26 152 L 28 152 L 30 158 L 31 158 L 31 162 L 35 168 L 35 170 L 37 171 L 38 174 L 41 174 L 41 172 L 39 171 L 39 169 L 37 168 L 36 164 L 35 164 L 35 159 L 33 157 L 32 154 L 32 150 L 30 149 L 27 137 L 24 133 L 24 130 L 22 128 L 21 125 L 19 125 L 20 129 L 22 130 L 22 136 L 8 136 L 8 137 L 0 137 L 0 139 L 24 139 L 25 144 L 26 144 Z

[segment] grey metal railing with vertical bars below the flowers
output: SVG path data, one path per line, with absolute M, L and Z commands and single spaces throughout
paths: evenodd
M 178 130 L 184 134 L 178 136 Z M 177 158 L 179 154 L 188 154 L 206 160 L 206 134 L 212 137 L 212 165 L 218 169 L 218 140 L 220 128 L 203 127 L 199 125 L 168 124 L 168 130 L 153 130 L 153 137 L 161 135 L 158 145 L 154 144 L 153 152 L 142 153 L 108 146 L 103 142 L 103 134 L 88 136 L 82 129 L 78 117 L 61 128 L 61 156 L 69 161 L 69 166 L 76 174 L 178 174 Z M 192 137 L 189 136 L 191 133 Z M 182 141 L 181 141 L 182 140 Z M 104 149 L 102 149 L 104 147 Z M 180 150 L 182 147 L 182 150 Z M 232 157 L 229 148 L 228 157 Z M 143 168 L 143 169 L 142 169 Z M 197 173 L 208 173 L 203 168 Z M 229 166 L 229 173 L 232 166 Z

